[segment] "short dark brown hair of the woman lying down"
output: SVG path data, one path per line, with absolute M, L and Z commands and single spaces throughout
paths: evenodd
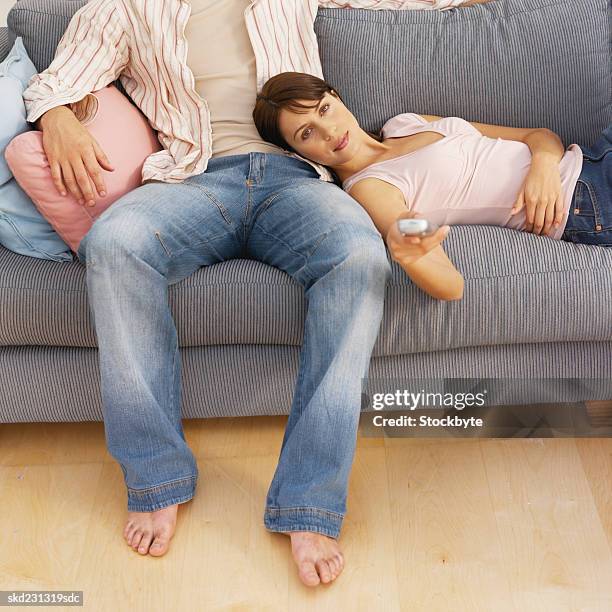
M 279 128 L 280 111 L 283 108 L 296 113 L 307 113 L 316 108 L 325 94 L 335 95 L 344 102 L 338 90 L 319 77 L 305 72 L 281 72 L 264 84 L 257 94 L 253 120 L 260 136 L 282 149 L 294 151 L 294 148 L 283 138 Z M 302 104 L 298 100 L 312 100 L 313 104 Z M 380 141 L 380 136 L 368 132 L 372 138 Z

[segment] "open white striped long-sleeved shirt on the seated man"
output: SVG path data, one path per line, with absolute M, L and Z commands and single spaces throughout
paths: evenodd
M 314 21 L 321 8 L 446 10 L 466 0 L 254 0 L 244 12 L 257 66 L 257 91 L 287 71 L 323 78 Z M 179 183 L 207 168 L 212 127 L 187 65 L 189 0 L 91 0 L 73 16 L 49 67 L 23 92 L 27 120 L 68 104 L 81 121 L 97 109 L 92 91 L 117 78 L 158 132 L 163 149 L 147 157 L 142 181 Z M 327 168 L 314 166 L 333 181 Z

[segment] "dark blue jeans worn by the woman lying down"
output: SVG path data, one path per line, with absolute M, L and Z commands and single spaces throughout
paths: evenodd
M 592 147 L 580 148 L 582 171 L 561 239 L 612 247 L 612 125 Z

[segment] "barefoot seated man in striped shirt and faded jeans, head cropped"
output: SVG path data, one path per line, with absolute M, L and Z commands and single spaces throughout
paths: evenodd
M 124 537 L 168 550 L 198 469 L 181 424 L 181 361 L 167 289 L 199 267 L 252 257 L 290 274 L 308 314 L 293 405 L 266 500 L 300 579 L 334 580 L 367 374 L 390 274 L 368 214 L 323 167 L 262 141 L 256 92 L 279 72 L 322 76 L 319 6 L 446 9 L 463 0 L 92 0 L 24 92 L 57 189 L 83 205 L 112 164 L 81 121 L 120 77 L 164 149 L 143 184 L 92 226 L 78 257 L 98 338 L 105 433 L 127 486 Z M 471 4 L 471 3 L 470 3 Z M 330 138 L 337 135 L 329 134 Z

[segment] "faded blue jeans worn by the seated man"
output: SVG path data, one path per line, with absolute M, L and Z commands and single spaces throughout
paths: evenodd
M 214 158 L 182 183 L 141 185 L 104 211 L 79 245 L 106 443 L 123 470 L 128 510 L 188 501 L 198 477 L 181 424 L 168 285 L 243 257 L 284 270 L 308 301 L 265 525 L 337 538 L 390 263 L 365 210 L 309 164 L 282 154 Z

